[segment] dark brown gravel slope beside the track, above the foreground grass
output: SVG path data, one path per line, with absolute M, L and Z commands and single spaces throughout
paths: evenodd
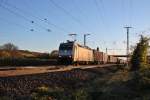
M 41 86 L 76 89 L 85 86 L 97 75 L 104 75 L 117 70 L 117 67 L 96 67 L 87 69 L 70 69 L 32 75 L 0 77 L 0 96 L 9 98 L 30 97 L 33 90 Z

